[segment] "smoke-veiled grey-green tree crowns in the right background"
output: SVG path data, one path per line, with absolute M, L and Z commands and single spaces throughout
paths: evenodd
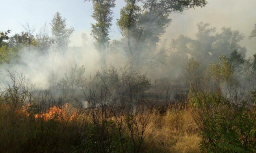
M 223 54 L 228 58 L 233 56 L 232 60 L 233 58 L 239 58 L 236 56 L 240 55 L 241 58 L 245 58 L 247 50 L 239 45 L 244 36 L 239 31 L 223 27 L 221 33 L 216 33 L 216 28 L 209 26 L 210 24 L 204 24 L 203 22 L 198 23 L 198 32 L 195 39 L 181 35 L 178 39 L 173 40 L 177 50 L 170 56 L 171 64 L 183 65 L 190 57 L 193 57 L 200 61 L 202 67 L 206 67 L 208 63 L 217 62 L 219 56 Z

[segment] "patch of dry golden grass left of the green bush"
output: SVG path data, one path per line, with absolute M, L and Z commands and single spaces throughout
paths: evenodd
M 144 152 L 200 152 L 200 138 L 191 111 L 190 108 L 169 108 L 165 115 L 154 113 L 153 120 L 147 127 Z

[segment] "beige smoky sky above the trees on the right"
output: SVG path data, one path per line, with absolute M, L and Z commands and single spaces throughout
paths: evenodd
M 239 30 L 245 38 L 240 45 L 247 47 L 247 57 L 255 53 L 255 39 L 249 40 L 254 24 L 256 23 L 255 0 L 208 0 L 206 7 L 185 10 L 184 14 L 171 15 L 172 23 L 162 40 L 177 38 L 179 35 L 195 38 L 197 23 L 209 23 L 210 27 L 217 27 L 217 32 L 222 27 L 231 27 Z

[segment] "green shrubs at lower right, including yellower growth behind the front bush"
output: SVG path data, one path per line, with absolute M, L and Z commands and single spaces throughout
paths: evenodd
M 203 152 L 256 152 L 256 91 L 251 93 L 250 101 L 234 104 L 220 93 L 195 92 L 191 87 L 188 99 L 197 112 Z

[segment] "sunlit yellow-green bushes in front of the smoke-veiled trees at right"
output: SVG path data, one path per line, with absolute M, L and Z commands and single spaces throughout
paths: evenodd
M 230 65 L 225 55 L 219 57 L 219 62 L 209 64 L 208 67 L 202 69 L 194 58 L 191 58 L 186 66 L 186 77 L 190 89 L 196 89 L 195 93 L 200 99 L 200 91 L 204 91 L 208 95 L 221 93 L 223 84 L 235 83 L 234 69 Z M 191 92 L 189 92 L 189 95 Z M 204 94 L 203 94 L 204 95 Z M 206 96 L 208 97 L 208 96 Z

